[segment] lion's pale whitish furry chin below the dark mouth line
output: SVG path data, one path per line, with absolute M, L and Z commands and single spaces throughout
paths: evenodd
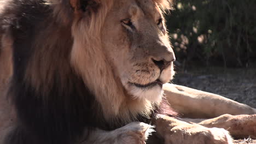
M 147 99 L 153 103 L 159 103 L 162 99 L 162 86 L 155 85 L 150 88 L 137 87 L 135 85 L 129 86 L 127 91 L 132 95 L 133 99 L 143 100 Z

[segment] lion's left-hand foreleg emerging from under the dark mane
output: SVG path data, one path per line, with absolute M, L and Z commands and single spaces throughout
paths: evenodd
M 96 129 L 92 131 L 89 138 L 82 143 L 91 144 L 120 144 L 120 143 L 131 143 L 131 144 L 144 144 L 148 139 L 148 135 L 152 133 L 153 126 L 141 123 L 132 122 L 124 127 L 115 129 L 113 131 L 104 131 Z

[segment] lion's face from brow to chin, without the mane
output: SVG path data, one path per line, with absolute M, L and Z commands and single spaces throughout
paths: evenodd
M 159 101 L 175 60 L 164 18 L 152 0 L 114 4 L 102 28 L 109 67 L 133 99 Z

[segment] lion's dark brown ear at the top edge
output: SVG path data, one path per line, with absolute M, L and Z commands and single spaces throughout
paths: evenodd
M 96 10 L 101 0 L 69 0 L 74 13 L 83 13 L 86 10 Z

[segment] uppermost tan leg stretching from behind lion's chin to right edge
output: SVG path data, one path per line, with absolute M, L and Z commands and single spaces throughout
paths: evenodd
M 217 94 L 167 83 L 164 93 L 174 110 L 188 118 L 214 118 L 230 115 L 253 115 L 256 109 Z

